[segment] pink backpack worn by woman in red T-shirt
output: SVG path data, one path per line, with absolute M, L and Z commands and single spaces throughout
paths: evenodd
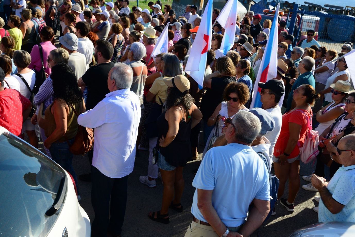
M 297 109 L 297 110 L 301 111 L 306 115 L 306 117 L 308 117 L 308 115 L 301 109 Z M 309 118 L 307 119 L 307 122 L 308 122 L 307 131 L 306 131 L 305 142 L 303 146 L 301 146 L 300 142 L 297 142 L 297 146 L 300 149 L 301 161 L 305 164 L 313 161 L 319 153 L 318 150 L 319 134 L 317 131 L 312 130 L 312 125 Z

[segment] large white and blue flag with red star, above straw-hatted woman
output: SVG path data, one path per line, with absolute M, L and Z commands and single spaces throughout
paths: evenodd
M 200 27 L 196 33 L 185 72 L 189 74 L 198 85 L 203 86 L 204 71 L 206 70 L 207 51 L 211 48 L 212 39 L 212 0 L 207 2 L 203 12 Z

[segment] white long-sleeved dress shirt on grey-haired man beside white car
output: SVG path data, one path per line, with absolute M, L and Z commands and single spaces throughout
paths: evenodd
M 133 171 L 141 105 L 130 89 L 110 92 L 93 109 L 78 117 L 78 124 L 94 128 L 92 165 L 110 178 Z

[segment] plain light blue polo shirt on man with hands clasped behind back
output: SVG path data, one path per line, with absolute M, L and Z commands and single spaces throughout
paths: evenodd
M 212 205 L 228 227 L 242 225 L 254 198 L 269 201 L 269 173 L 251 146 L 231 143 L 213 147 L 204 156 L 193 187 L 213 190 Z M 197 208 L 197 189 L 191 213 L 207 222 Z

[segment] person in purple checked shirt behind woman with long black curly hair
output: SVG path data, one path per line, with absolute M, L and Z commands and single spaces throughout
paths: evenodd
M 69 53 L 67 50 L 58 48 L 50 51 L 47 56 L 46 63 L 48 68 L 53 68 L 54 65 L 59 63 L 68 63 Z M 44 112 L 48 106 L 53 103 L 54 100 L 54 92 L 53 92 L 53 81 L 51 79 L 51 75 L 43 82 L 42 86 L 39 87 L 38 93 L 34 96 L 33 103 L 37 106 L 36 113 L 33 115 L 31 121 L 32 124 L 36 124 L 39 122 L 39 131 L 42 137 L 42 141 L 45 141 L 47 137 L 44 134 Z M 43 105 L 41 106 L 41 104 Z M 42 119 L 42 121 L 38 118 Z M 51 157 L 49 149 L 44 147 L 47 155 Z

